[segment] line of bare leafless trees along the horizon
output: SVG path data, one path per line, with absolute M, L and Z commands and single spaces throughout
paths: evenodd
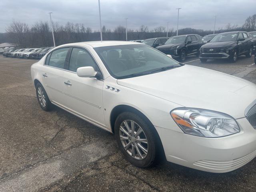
M 66 43 L 83 42 L 100 40 L 100 32 L 92 31 L 92 28 L 84 26 L 81 23 L 67 22 L 65 25 L 60 25 L 53 22 L 54 37 L 56 46 Z M 246 18 L 242 26 L 228 23 L 226 27 L 218 28 L 215 33 L 228 31 L 255 31 L 256 30 L 256 14 Z M 204 36 L 212 34 L 212 30 L 201 30 L 193 28 L 179 29 L 179 35 L 182 34 L 199 34 Z M 141 25 L 137 30 L 128 29 L 128 40 L 147 39 L 166 36 L 166 27 L 158 26 L 152 30 L 148 26 Z M 168 36 L 176 35 L 174 28 L 168 29 Z M 126 40 L 126 28 L 124 26 L 117 26 L 114 29 L 108 29 L 106 26 L 102 27 L 103 40 Z M 28 26 L 25 22 L 13 20 L 12 23 L 6 27 L 6 33 L 0 33 L 0 43 L 10 42 L 17 44 L 20 48 L 28 47 L 48 47 L 53 45 L 51 25 L 47 21 L 36 22 L 32 26 Z

